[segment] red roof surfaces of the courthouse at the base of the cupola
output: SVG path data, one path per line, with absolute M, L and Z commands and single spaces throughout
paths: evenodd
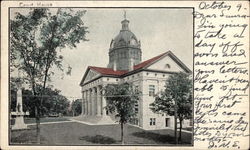
M 144 61 L 144 62 L 141 62 L 140 64 L 135 65 L 135 66 L 134 66 L 134 70 L 141 69 L 141 68 L 143 68 L 143 67 L 145 67 L 145 66 L 147 66 L 147 65 L 149 65 L 149 64 L 151 64 L 151 63 L 153 63 L 154 61 L 160 59 L 160 58 L 161 58 L 163 55 L 165 55 L 166 53 L 168 53 L 168 52 L 165 52 L 165 53 L 160 54 L 160 55 L 158 55 L 158 56 L 156 56 L 156 57 L 153 57 L 153 58 L 151 58 L 151 59 L 149 59 L 149 60 L 146 60 L 146 61 Z M 123 74 L 129 72 L 129 71 L 127 71 L 127 70 L 117 70 L 117 71 L 115 71 L 115 70 L 113 70 L 112 68 L 103 68 L 103 67 L 95 67 L 95 66 L 89 66 L 89 68 L 90 68 L 90 69 L 93 69 L 93 70 L 95 70 L 95 71 L 97 71 L 97 72 L 99 72 L 99 73 L 101 73 L 102 75 L 115 75 L 115 76 L 120 76 L 120 75 L 123 75 Z M 134 70 L 133 70 L 133 71 L 134 71 Z

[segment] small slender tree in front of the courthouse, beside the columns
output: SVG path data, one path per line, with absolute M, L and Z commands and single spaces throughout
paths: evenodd
M 121 142 L 124 144 L 123 127 L 135 117 L 135 104 L 139 99 L 139 92 L 132 84 L 111 84 L 104 87 L 104 96 L 107 100 L 106 110 L 115 113 L 121 125 Z

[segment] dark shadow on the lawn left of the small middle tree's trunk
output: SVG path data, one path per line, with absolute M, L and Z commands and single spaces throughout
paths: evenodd
M 85 140 L 88 142 L 96 143 L 96 144 L 114 144 L 116 140 L 113 138 L 103 136 L 103 135 L 96 135 L 96 136 L 83 136 L 79 138 L 80 140 Z

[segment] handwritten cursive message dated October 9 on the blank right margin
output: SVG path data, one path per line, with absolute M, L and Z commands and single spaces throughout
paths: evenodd
M 249 138 L 249 8 L 216 1 L 197 8 L 194 140 L 209 149 L 241 149 Z

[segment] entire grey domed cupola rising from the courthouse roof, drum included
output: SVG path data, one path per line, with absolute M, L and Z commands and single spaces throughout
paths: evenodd
M 108 67 L 114 70 L 131 70 L 141 62 L 141 43 L 129 29 L 126 12 L 121 24 L 122 29 L 110 43 Z

